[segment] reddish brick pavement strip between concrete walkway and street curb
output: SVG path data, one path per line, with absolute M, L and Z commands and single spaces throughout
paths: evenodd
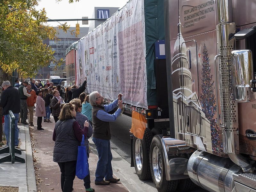
M 60 168 L 57 163 L 52 161 L 53 157 L 53 147 L 54 141 L 52 140 L 52 133 L 55 123 L 44 123 L 42 122 L 42 127 L 44 130 L 36 129 L 36 118 L 34 117 L 35 133 L 34 138 L 36 141 L 35 151 L 38 157 L 38 160 L 35 164 L 40 174 L 40 178 L 43 179 L 42 182 L 38 185 L 38 190 L 43 192 L 52 191 L 54 188 L 55 192 L 61 192 L 60 188 Z M 52 121 L 53 118 L 51 118 Z M 34 153 L 35 154 L 35 153 Z M 95 170 L 97 166 L 98 157 L 91 152 L 89 157 L 89 168 L 91 176 L 91 187 L 95 189 L 96 192 L 100 191 L 112 191 L 112 192 L 127 192 L 129 191 L 124 187 L 121 182 L 110 183 L 107 186 L 95 185 Z M 74 191 L 85 191 L 83 180 L 78 179 L 77 177 L 74 180 L 73 184 Z M 50 190 L 52 189 L 52 190 Z

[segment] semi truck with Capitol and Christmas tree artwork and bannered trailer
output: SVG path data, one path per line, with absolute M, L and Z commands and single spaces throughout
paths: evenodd
M 76 84 L 87 76 L 106 103 L 121 92 L 124 113 L 146 117 L 131 166 L 158 191 L 256 191 L 255 10 L 254 0 L 130 0 L 68 49 Z

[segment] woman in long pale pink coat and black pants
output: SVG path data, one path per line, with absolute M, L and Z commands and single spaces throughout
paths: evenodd
M 43 99 L 43 93 L 41 90 L 36 92 L 38 96 L 36 98 L 36 117 L 37 117 L 37 130 L 44 130 L 42 128 L 42 119 L 45 116 L 45 102 Z

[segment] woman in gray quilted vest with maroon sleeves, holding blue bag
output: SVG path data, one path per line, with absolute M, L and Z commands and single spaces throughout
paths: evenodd
M 60 112 L 59 121 L 56 122 L 52 135 L 55 141 L 53 161 L 60 167 L 60 183 L 63 192 L 71 192 L 76 176 L 77 151 L 80 142 L 87 137 L 89 123 L 84 122 L 81 129 L 76 117 L 75 106 L 67 103 Z

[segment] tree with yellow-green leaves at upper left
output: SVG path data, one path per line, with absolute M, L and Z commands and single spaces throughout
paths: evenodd
M 0 0 L 0 86 L 4 76 L 17 72 L 32 77 L 37 69 L 54 61 L 50 46 L 43 39 L 57 40 L 56 29 L 46 24 L 45 10 L 37 11 L 38 0 Z M 69 26 L 60 24 L 67 32 Z M 71 31 L 73 33 L 73 31 Z M 0 109 L 0 116 L 2 110 Z M 0 142 L 2 141 L 0 124 Z

